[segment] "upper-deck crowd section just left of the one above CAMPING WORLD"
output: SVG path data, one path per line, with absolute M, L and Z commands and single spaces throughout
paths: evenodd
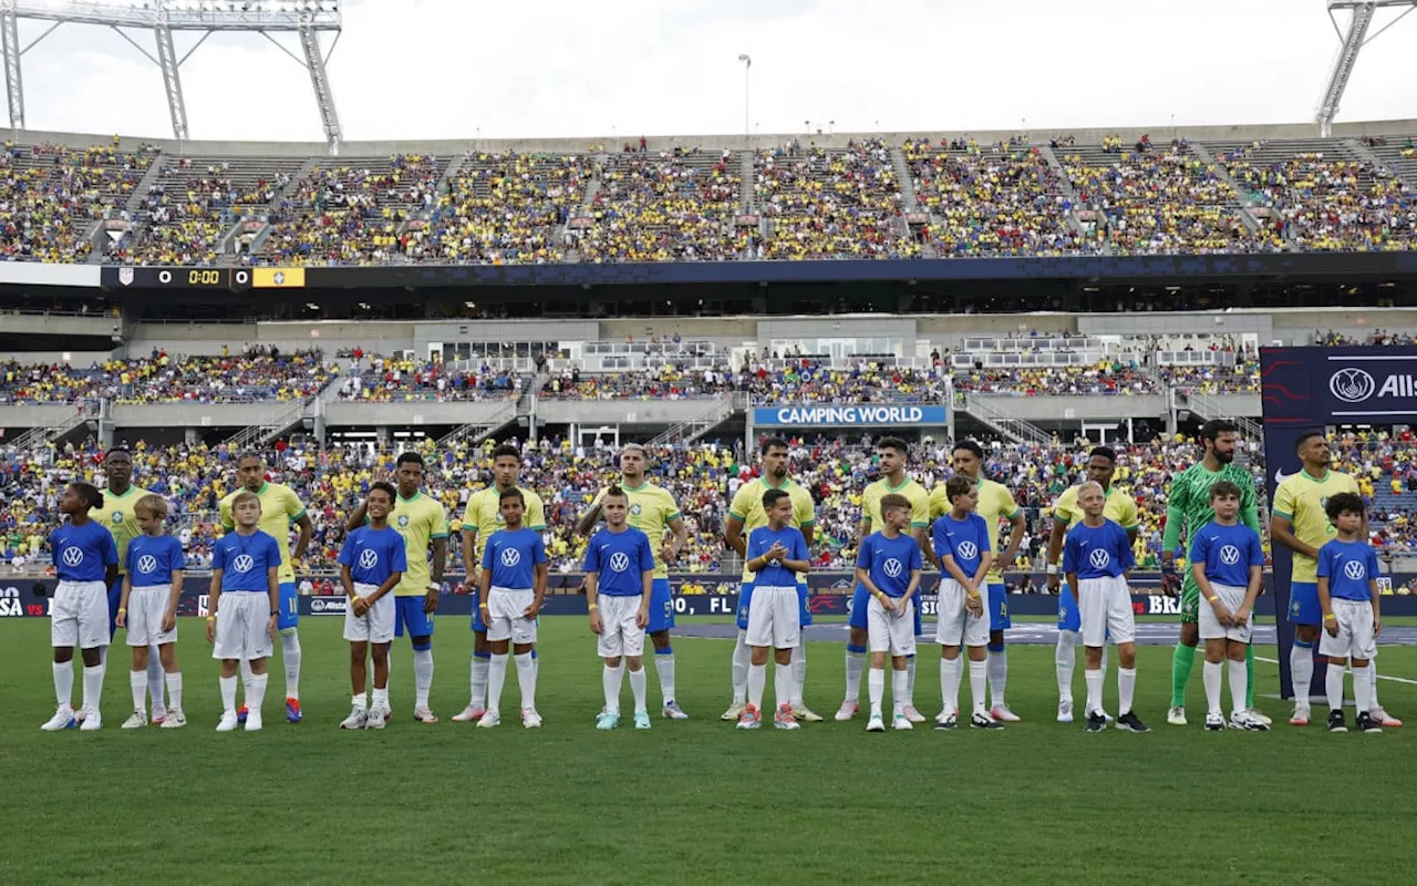
M 738 159 L 723 152 L 609 155 L 581 240 L 585 261 L 704 261 L 751 245 L 734 225 Z

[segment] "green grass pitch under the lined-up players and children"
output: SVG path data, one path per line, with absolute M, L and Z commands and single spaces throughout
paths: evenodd
M 649 733 L 606 734 L 592 727 L 601 707 L 594 641 L 581 618 L 560 617 L 541 627 L 544 729 L 523 730 L 512 716 L 479 730 L 449 720 L 468 699 L 472 642 L 466 621 L 449 617 L 435 648 L 432 706 L 442 722 L 410 717 L 402 645 L 397 719 L 383 733 L 341 733 L 349 656 L 340 627 L 302 622 L 305 723 L 288 726 L 278 710 L 275 661 L 265 731 L 218 736 L 217 663 L 197 619 L 183 621 L 179 644 L 190 726 L 119 729 L 129 707 L 125 646 L 115 648 L 105 727 L 94 734 L 38 730 L 52 713 L 48 624 L 0 625 L 0 883 L 1413 876 L 1411 683 L 1382 682 L 1384 705 L 1410 726 L 1379 736 L 1282 724 L 1271 734 L 1210 734 L 1195 724 L 1204 707 L 1199 663 L 1187 699 L 1193 724 L 1169 727 L 1170 649 L 1144 646 L 1138 712 L 1155 731 L 1088 736 L 1053 723 L 1053 649 L 1015 646 L 1009 697 L 1026 722 L 1000 733 L 873 736 L 857 717 L 740 734 L 718 722 L 728 644 L 680 638 L 679 696 L 693 719 L 656 716 Z M 922 652 L 917 699 L 934 714 L 938 666 L 934 646 Z M 1387 648 L 1382 665 L 1417 678 L 1417 649 Z M 840 644 L 811 646 L 808 703 L 825 716 L 840 702 L 842 666 Z M 1115 713 L 1115 656 L 1112 668 Z M 1275 666 L 1260 663 L 1258 679 L 1274 692 Z M 652 666 L 649 683 L 657 714 Z M 628 685 L 623 705 L 628 712 Z M 1274 699 L 1261 706 L 1281 722 L 1288 712 Z M 512 672 L 503 709 L 516 707 Z

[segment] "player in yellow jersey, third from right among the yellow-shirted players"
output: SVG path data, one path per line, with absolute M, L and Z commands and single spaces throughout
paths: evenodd
M 979 489 L 979 503 L 975 513 L 989 526 L 989 550 L 999 551 L 985 577 L 989 605 L 989 716 L 1000 723 L 1017 723 L 1019 714 L 1009 709 L 1005 688 L 1009 680 L 1009 654 L 1003 646 L 1003 632 L 1013 627 L 1009 619 L 1009 590 L 1003 584 L 1003 570 L 1012 567 L 1023 544 L 1024 517 L 1013 493 L 1003 483 L 983 476 L 983 448 L 972 439 L 955 444 L 951 459 L 955 475 L 973 481 Z M 930 498 L 930 519 L 935 520 L 949 513 L 951 503 L 945 495 L 945 483 L 937 483 Z M 1009 523 L 1009 543 L 999 549 L 999 526 Z M 928 539 L 927 539 L 928 543 Z M 925 550 L 930 550 L 927 547 Z

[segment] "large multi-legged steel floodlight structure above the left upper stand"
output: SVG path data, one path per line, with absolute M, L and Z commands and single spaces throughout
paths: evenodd
M 1414 0 L 1417 1 L 1417 0 Z M 30 45 L 20 45 L 18 20 L 51 23 Z M 179 71 L 187 58 L 215 33 L 261 34 L 289 55 L 310 75 L 315 102 L 324 125 L 324 140 L 337 155 L 343 133 L 334 111 L 334 95 L 326 62 L 340 41 L 339 0 L 0 0 L 0 50 L 4 54 L 6 94 L 10 101 L 10 126 L 24 128 L 24 84 L 20 57 L 48 37 L 61 24 L 96 24 L 111 27 L 163 72 L 167 109 L 173 118 L 173 136 L 187 140 L 187 105 L 183 101 Z M 156 55 L 140 47 L 123 28 L 152 31 Z M 179 58 L 173 31 L 201 31 L 201 37 Z M 329 52 L 320 51 L 320 33 L 334 33 Z M 272 34 L 293 33 L 300 41 L 300 55 L 285 48 Z M 303 58 L 302 58 L 303 55 Z

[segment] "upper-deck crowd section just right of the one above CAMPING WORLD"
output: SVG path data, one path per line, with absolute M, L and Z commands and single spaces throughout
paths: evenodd
M 939 257 L 1058 255 L 1087 248 L 1047 157 L 1026 145 L 905 140 L 915 200 Z

